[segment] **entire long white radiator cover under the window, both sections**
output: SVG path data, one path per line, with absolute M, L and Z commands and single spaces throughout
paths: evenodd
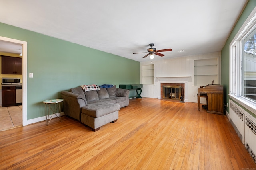
M 256 119 L 229 100 L 230 123 L 256 163 Z

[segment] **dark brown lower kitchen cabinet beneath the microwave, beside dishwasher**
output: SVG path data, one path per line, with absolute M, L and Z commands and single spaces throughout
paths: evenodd
M 2 107 L 15 106 L 16 88 L 15 86 L 2 86 Z

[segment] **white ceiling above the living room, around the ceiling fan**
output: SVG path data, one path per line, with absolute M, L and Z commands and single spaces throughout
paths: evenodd
M 173 50 L 154 60 L 221 51 L 247 1 L 0 0 L 0 22 L 148 61 L 132 53 L 150 43 Z

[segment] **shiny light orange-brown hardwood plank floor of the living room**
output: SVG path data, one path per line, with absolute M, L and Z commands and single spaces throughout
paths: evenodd
M 132 99 L 93 132 L 64 116 L 0 132 L 0 169 L 255 169 L 225 115 L 196 103 Z

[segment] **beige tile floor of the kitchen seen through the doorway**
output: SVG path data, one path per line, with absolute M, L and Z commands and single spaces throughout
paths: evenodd
M 0 107 L 0 131 L 22 125 L 22 105 Z

